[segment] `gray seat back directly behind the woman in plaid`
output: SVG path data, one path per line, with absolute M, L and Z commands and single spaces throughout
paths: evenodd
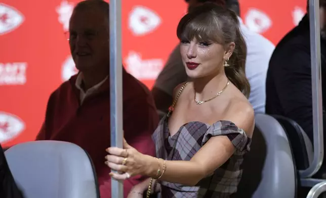
M 271 116 L 257 114 L 251 151 L 235 197 L 296 197 L 296 170 L 287 134 Z

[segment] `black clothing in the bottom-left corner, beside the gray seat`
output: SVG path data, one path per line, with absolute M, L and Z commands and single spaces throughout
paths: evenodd
M 0 144 L 0 197 L 23 198 L 23 193 L 18 188 L 9 169 L 4 149 Z

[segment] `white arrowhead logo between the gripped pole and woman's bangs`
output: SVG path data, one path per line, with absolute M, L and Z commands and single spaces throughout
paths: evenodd
M 129 14 L 129 28 L 136 36 L 143 36 L 154 31 L 160 23 L 160 17 L 143 6 L 134 7 Z

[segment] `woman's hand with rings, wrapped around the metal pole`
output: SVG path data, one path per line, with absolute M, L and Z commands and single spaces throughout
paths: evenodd
M 117 180 L 125 180 L 135 175 L 146 175 L 152 157 L 139 153 L 124 139 L 124 149 L 109 147 L 105 164 L 118 173 L 110 173 Z

